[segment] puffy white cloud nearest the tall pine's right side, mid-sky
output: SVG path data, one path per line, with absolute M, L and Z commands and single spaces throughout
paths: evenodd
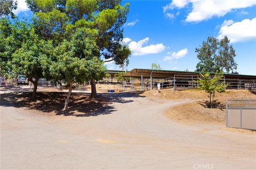
M 149 38 L 146 37 L 142 40 L 131 41 L 131 43 L 128 45 L 129 48 L 132 50 L 132 54 L 134 56 L 138 55 L 147 55 L 147 54 L 157 54 L 163 52 L 163 50 L 166 48 L 162 43 L 159 44 L 152 44 L 145 47 L 142 47 L 143 44 L 147 43 L 149 41 Z

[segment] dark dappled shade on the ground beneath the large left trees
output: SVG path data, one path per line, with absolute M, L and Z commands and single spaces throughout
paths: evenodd
M 31 100 L 31 92 L 15 91 L 1 94 L 0 104 L 3 107 L 35 109 L 44 113 L 55 113 L 65 116 L 98 116 L 111 114 L 115 110 L 113 103 L 131 103 L 130 97 L 144 97 L 138 92 L 119 94 L 99 94 L 97 99 L 90 99 L 90 94 L 73 92 L 69 99 L 69 107 L 62 111 L 67 92 L 37 92 L 36 99 Z

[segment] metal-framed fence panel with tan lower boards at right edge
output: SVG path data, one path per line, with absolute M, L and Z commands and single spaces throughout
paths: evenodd
M 256 130 L 256 99 L 228 99 L 226 126 Z

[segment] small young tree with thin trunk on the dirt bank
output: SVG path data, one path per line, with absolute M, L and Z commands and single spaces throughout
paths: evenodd
M 200 75 L 201 78 L 198 78 L 197 80 L 197 83 L 200 84 L 198 88 L 204 90 L 210 95 L 210 107 L 212 108 L 212 99 L 215 97 L 215 92 L 225 92 L 228 84 L 225 84 L 225 82 L 220 82 L 223 78 L 222 72 L 216 72 L 213 78 L 211 78 L 210 73 L 202 73 Z

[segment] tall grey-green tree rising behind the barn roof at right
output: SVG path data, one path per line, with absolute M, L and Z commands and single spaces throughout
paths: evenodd
M 229 45 L 229 39 L 225 36 L 218 40 L 215 37 L 208 37 L 203 41 L 202 46 L 196 48 L 199 63 L 196 65 L 196 71 L 200 72 L 233 72 L 237 69 L 235 62 L 235 49 Z

